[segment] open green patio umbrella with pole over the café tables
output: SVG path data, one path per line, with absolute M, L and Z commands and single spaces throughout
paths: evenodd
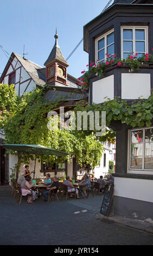
M 63 151 L 59 151 L 56 149 L 46 148 L 39 144 L 33 144 L 33 145 L 23 145 L 23 144 L 3 144 L 3 147 L 5 149 L 11 149 L 14 151 L 22 151 L 27 154 L 33 154 L 35 155 L 35 167 L 34 167 L 34 178 L 35 178 L 35 168 L 36 168 L 36 157 L 37 155 L 54 155 L 54 156 L 65 156 L 70 155 L 68 153 L 65 153 Z

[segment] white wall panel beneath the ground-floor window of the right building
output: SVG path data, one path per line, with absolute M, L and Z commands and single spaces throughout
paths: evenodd
M 153 180 L 114 178 L 114 196 L 153 203 Z

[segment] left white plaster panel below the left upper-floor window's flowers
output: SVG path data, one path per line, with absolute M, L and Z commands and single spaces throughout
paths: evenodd
M 106 101 L 104 97 L 114 99 L 114 75 L 102 78 L 92 84 L 92 101 L 94 103 L 101 103 Z

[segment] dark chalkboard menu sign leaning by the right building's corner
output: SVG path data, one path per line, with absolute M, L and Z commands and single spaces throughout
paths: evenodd
M 105 216 L 109 216 L 112 199 L 113 199 L 113 191 L 114 191 L 114 184 L 113 183 L 107 184 L 107 187 L 104 193 L 103 203 L 100 209 L 100 213 Z

